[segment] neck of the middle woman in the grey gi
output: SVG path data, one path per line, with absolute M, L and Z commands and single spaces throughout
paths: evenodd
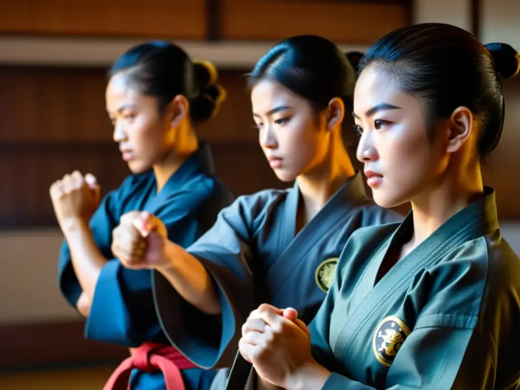
M 345 184 L 345 181 L 356 174 L 343 140 L 336 133 L 332 135 L 336 139 L 331 139 L 331 147 L 324 160 L 309 172 L 297 177 L 307 220 L 321 210 L 333 194 Z

